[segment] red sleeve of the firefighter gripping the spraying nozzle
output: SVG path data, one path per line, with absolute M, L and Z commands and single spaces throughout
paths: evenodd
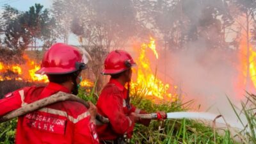
M 134 128 L 134 120 L 124 113 L 122 95 L 109 94 L 108 97 L 104 95 L 101 100 L 103 102 L 100 102 L 98 107 L 100 107 L 102 113 L 109 118 L 113 130 L 117 134 L 132 132 Z

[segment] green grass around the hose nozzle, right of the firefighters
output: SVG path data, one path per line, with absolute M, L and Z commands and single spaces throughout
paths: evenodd
M 148 112 L 184 111 L 189 102 L 182 104 L 179 100 L 172 103 L 154 104 L 151 100 L 133 97 L 132 103 Z M 215 133 L 211 127 L 194 120 L 152 120 L 149 127 L 136 124 L 132 143 L 236 143 L 230 132 L 223 130 L 224 135 Z

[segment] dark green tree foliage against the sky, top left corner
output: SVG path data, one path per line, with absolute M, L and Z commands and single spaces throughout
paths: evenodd
M 54 32 L 55 20 L 49 10 L 41 4 L 31 6 L 27 12 L 19 12 L 11 6 L 4 6 L 1 29 L 4 31 L 4 44 L 10 49 L 23 51 L 32 43 L 41 40 L 51 45 L 58 35 Z

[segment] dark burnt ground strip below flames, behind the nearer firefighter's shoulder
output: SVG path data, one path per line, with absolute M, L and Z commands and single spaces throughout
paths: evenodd
M 15 80 L 6 80 L 0 81 L 0 99 L 4 97 L 7 93 L 13 92 L 19 88 L 25 86 L 44 86 L 45 83 L 32 83 L 28 81 L 15 81 Z

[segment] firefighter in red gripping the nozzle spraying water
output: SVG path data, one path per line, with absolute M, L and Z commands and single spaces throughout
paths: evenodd
M 111 75 L 109 83 L 103 88 L 97 102 L 97 110 L 102 116 L 109 118 L 109 124 L 97 125 L 100 143 L 129 143 L 134 123 L 148 126 L 150 120 L 140 119 L 136 114 L 146 113 L 130 104 L 129 82 L 131 67 L 136 65 L 128 52 L 112 51 L 104 62 L 102 74 Z M 127 89 L 125 84 L 128 84 Z M 166 113 L 158 112 L 161 118 Z

